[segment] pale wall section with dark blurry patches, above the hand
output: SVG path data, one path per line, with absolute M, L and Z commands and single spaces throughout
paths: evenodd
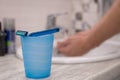
M 89 29 L 98 21 L 98 2 L 95 2 L 95 0 L 72 0 L 72 5 L 72 17 L 75 21 L 76 29 Z M 78 15 L 78 18 L 76 17 L 76 14 Z

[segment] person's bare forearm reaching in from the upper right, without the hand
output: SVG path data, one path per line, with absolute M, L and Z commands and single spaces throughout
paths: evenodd
M 89 36 L 93 46 L 98 46 L 106 39 L 120 32 L 120 0 L 116 0 L 111 9 L 91 30 Z

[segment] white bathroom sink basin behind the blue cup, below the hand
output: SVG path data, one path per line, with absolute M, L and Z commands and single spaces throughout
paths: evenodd
M 120 58 L 120 43 L 118 42 L 106 41 L 99 47 L 92 49 L 83 56 L 66 57 L 58 53 L 56 49 L 56 44 L 58 41 L 62 41 L 62 39 L 54 41 L 52 63 L 89 63 Z M 19 47 L 17 50 L 17 56 L 22 59 L 21 47 Z

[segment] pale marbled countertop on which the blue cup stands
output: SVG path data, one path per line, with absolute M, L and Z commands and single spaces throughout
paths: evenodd
M 53 64 L 43 80 L 119 80 L 120 58 L 85 64 Z M 26 80 L 22 60 L 9 54 L 0 57 L 0 80 Z

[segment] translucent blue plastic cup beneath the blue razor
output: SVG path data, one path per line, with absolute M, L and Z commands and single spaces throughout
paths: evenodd
M 24 68 L 27 78 L 50 76 L 54 35 L 21 36 Z

